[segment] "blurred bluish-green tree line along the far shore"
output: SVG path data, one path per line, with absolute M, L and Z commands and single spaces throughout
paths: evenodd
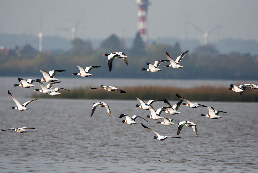
M 104 40 L 96 50 L 90 41 L 76 38 L 71 42 L 72 48 L 68 52 L 42 52 L 36 54 L 12 53 L 8 56 L 0 53 L 1 76 L 41 76 L 40 70 L 66 70 L 59 74 L 62 77 L 73 77 L 78 73 L 79 65 L 101 66 L 92 69 L 94 77 L 120 77 L 120 78 L 173 78 L 173 79 L 222 79 L 222 80 L 257 80 L 258 56 L 231 52 L 221 54 L 214 45 L 198 46 L 190 50 L 180 62 L 183 68 L 174 69 L 164 67 L 169 62 L 160 65 L 161 72 L 151 73 L 140 71 L 148 68 L 146 62 L 154 64 L 156 60 L 167 60 L 166 52 L 175 60 L 181 53 L 180 44 L 151 43 L 143 46 L 140 34 L 135 35 L 131 49 L 126 48 L 124 40 L 112 34 Z M 109 72 L 107 57 L 104 53 L 124 52 L 129 66 L 122 59 L 113 61 L 112 71 Z M 91 77 L 93 77 L 91 76 Z M 80 76 L 77 76 L 80 77 Z M 165 82 L 165 80 L 164 80 Z

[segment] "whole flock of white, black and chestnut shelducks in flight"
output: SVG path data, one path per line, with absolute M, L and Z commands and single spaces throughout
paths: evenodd
M 167 56 L 167 59 L 168 60 L 158 60 L 158 61 L 155 61 L 154 65 L 147 63 L 147 65 L 149 66 L 148 69 L 145 69 L 145 68 L 142 68 L 141 70 L 145 70 L 145 71 L 149 71 L 149 72 L 159 72 L 161 71 L 161 69 L 159 69 L 159 65 L 161 62 L 170 62 L 170 65 L 165 65 L 164 67 L 172 67 L 172 68 L 181 68 L 183 66 L 180 66 L 179 65 L 179 62 L 181 61 L 181 59 L 189 52 L 186 51 L 184 53 L 182 53 L 180 56 L 178 56 L 176 58 L 176 60 L 174 61 L 170 55 L 166 52 L 166 56 Z M 112 70 L 112 61 L 114 58 L 122 58 L 126 65 L 128 66 L 128 60 L 127 60 L 127 57 L 125 55 L 125 53 L 122 53 L 122 52 L 113 52 L 111 54 L 109 53 L 105 53 L 103 56 L 107 56 L 108 57 L 108 68 L 109 68 L 109 71 L 111 72 Z M 73 73 L 72 75 L 79 75 L 79 76 L 82 76 L 82 77 L 88 77 L 88 76 L 91 76 L 92 74 L 90 74 L 90 70 L 92 68 L 100 68 L 100 66 L 90 66 L 90 67 L 86 67 L 85 69 L 78 66 L 78 69 L 79 69 L 79 73 Z M 45 93 L 45 94 L 49 94 L 51 96 L 57 96 L 57 95 L 60 95 L 61 93 L 59 93 L 59 90 L 67 90 L 67 89 L 64 89 L 64 88 L 55 88 L 53 89 L 53 85 L 54 84 L 57 84 L 57 83 L 60 83 L 60 82 L 56 82 L 58 81 L 58 79 L 54 78 L 55 74 L 57 72 L 65 72 L 65 70 L 52 70 L 50 71 L 49 73 L 45 72 L 44 70 L 40 70 L 41 73 L 43 74 L 43 78 L 42 79 L 36 79 L 36 80 L 31 80 L 31 79 L 28 79 L 28 80 L 25 80 L 23 78 L 18 78 L 18 81 L 21 82 L 20 84 L 14 84 L 14 86 L 21 86 L 23 88 L 31 88 L 31 87 L 34 87 L 35 85 L 33 85 L 33 82 L 38 82 L 38 84 L 41 86 L 41 89 L 35 89 L 34 91 L 39 91 L 39 92 L 42 92 L 42 93 Z M 47 85 L 44 85 L 42 82 L 47 82 L 49 84 Z M 251 89 L 257 89 L 258 88 L 258 85 L 255 85 L 255 84 L 244 84 L 244 85 L 240 85 L 240 86 L 237 86 L 237 85 L 234 85 L 234 84 L 230 84 L 230 88 L 228 88 L 228 90 L 233 90 L 235 92 L 240 92 L 240 95 L 242 95 L 242 93 L 244 92 L 244 90 L 249 87 Z M 118 91 L 120 93 L 126 93 L 125 91 L 121 90 L 121 89 L 118 89 L 114 86 L 104 86 L 104 85 L 101 85 L 100 87 L 98 88 L 103 88 L 107 91 Z M 98 89 L 98 88 L 91 88 L 92 90 L 94 89 Z M 67 90 L 69 91 L 69 90 Z M 25 102 L 24 104 L 20 104 L 19 101 L 17 99 L 15 99 L 12 94 L 10 93 L 10 91 L 8 90 L 8 94 L 9 96 L 12 98 L 12 100 L 15 102 L 16 106 L 13 106 L 12 109 L 18 109 L 20 111 L 25 111 L 25 110 L 28 110 L 26 108 L 27 105 L 29 105 L 30 103 L 36 101 L 38 98 L 34 99 L 34 100 L 30 100 L 30 101 L 27 101 Z M 179 96 L 178 94 L 176 94 L 176 96 L 180 99 L 180 101 L 178 103 L 176 103 L 175 105 L 171 106 L 171 104 L 166 100 L 149 100 L 146 104 L 144 103 L 143 100 L 141 100 L 140 98 L 136 97 L 136 99 L 140 102 L 140 105 L 135 105 L 135 107 L 139 107 L 143 110 L 149 110 L 150 111 L 150 115 L 146 116 L 146 118 L 152 118 L 154 120 L 159 120 L 159 119 L 163 119 L 162 122 L 157 122 L 156 124 L 163 124 L 163 125 L 173 125 L 175 123 L 173 123 L 172 121 L 177 121 L 177 120 L 174 120 L 174 119 L 170 119 L 170 118 L 166 118 L 166 117 L 161 117 L 161 113 L 162 112 L 165 112 L 167 114 L 170 114 L 170 115 L 176 115 L 176 114 L 179 114 L 180 112 L 178 112 L 178 109 L 180 107 L 180 105 L 186 105 L 188 106 L 189 108 L 198 108 L 198 107 L 207 107 L 207 109 L 209 110 L 209 113 L 208 114 L 201 114 L 199 116 L 206 116 L 206 117 L 209 117 L 211 119 L 220 119 L 221 116 L 219 116 L 219 113 L 227 113 L 227 112 L 224 112 L 224 111 L 217 111 L 215 110 L 212 106 L 204 106 L 204 105 L 201 105 L 201 104 L 197 104 L 197 103 L 192 103 L 190 100 L 187 100 L 181 96 Z M 153 103 L 155 103 L 156 101 L 164 101 L 164 104 L 165 106 L 162 107 L 162 108 L 158 108 L 157 111 L 155 111 L 154 107 L 152 106 Z M 183 103 L 186 102 L 186 103 Z M 110 108 L 109 108 L 109 105 L 102 102 L 102 101 L 99 101 L 98 103 L 93 103 L 93 108 L 92 108 L 92 111 L 91 111 L 91 116 L 93 115 L 95 109 L 100 106 L 100 107 L 106 107 L 107 109 L 107 112 L 108 112 L 108 115 L 110 116 L 111 118 L 111 111 L 110 111 Z M 128 116 L 128 115 L 125 115 L 125 114 L 121 114 L 119 116 L 119 118 L 126 118 L 125 120 L 122 121 L 122 123 L 127 123 L 127 124 L 137 124 L 135 122 L 135 119 L 137 117 L 140 117 L 140 116 L 137 116 L 137 115 L 133 115 L 132 117 Z M 143 117 L 140 117 L 142 119 L 144 119 Z M 147 121 L 146 119 L 144 119 L 145 121 Z M 148 122 L 148 121 L 147 121 Z M 197 133 L 197 128 L 196 128 L 196 124 L 193 123 L 193 122 L 190 122 L 190 121 L 177 121 L 177 125 L 178 125 L 178 131 L 177 131 L 177 135 L 180 134 L 183 126 L 187 126 L 187 127 L 192 127 L 193 128 L 193 131 L 196 135 L 196 137 L 198 137 L 198 133 Z M 159 133 L 157 133 L 156 131 L 153 131 L 151 130 L 150 128 L 146 127 L 145 125 L 141 124 L 142 127 L 146 128 L 147 130 L 151 131 L 151 132 L 154 132 L 157 136 L 154 136 L 154 139 L 158 139 L 158 140 L 165 140 L 167 138 L 181 138 L 181 137 L 172 137 L 172 136 L 163 136 L 163 135 L 160 135 Z M 14 131 L 17 131 L 19 133 L 23 133 L 23 132 L 27 132 L 26 129 L 36 129 L 36 128 L 28 128 L 28 127 L 22 127 L 22 128 L 11 128 L 11 129 L 7 129 L 7 130 L 14 130 Z M 3 129 L 1 129 L 2 131 L 5 131 Z

